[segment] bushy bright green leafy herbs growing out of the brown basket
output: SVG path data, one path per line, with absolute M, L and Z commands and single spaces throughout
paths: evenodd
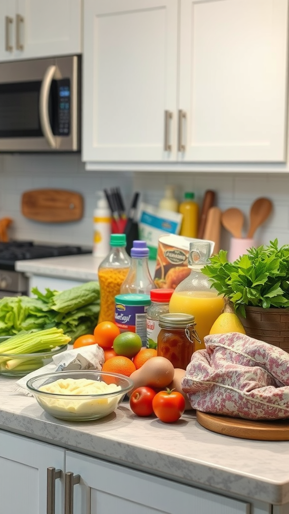
M 232 263 L 227 252 L 220 250 L 202 272 L 243 317 L 246 305 L 289 307 L 289 245 L 278 248 L 277 239 L 268 246 L 250 248 Z

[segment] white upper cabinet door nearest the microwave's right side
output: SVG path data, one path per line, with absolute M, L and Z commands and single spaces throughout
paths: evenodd
M 83 160 L 176 159 L 177 7 L 86 0 Z

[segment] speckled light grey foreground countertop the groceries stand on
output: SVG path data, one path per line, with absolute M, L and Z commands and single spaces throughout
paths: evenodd
M 2 430 L 222 494 L 289 502 L 289 442 L 215 434 L 193 413 L 171 425 L 137 418 L 127 402 L 98 421 L 67 423 L 43 412 L 33 397 L 13 392 L 14 382 L 0 378 Z

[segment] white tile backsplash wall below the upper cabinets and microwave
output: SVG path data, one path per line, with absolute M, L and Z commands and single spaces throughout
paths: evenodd
M 245 216 L 244 235 L 248 230 L 252 202 L 269 197 L 272 215 L 256 232 L 259 244 L 278 237 L 289 243 L 289 175 L 241 173 L 164 173 L 164 172 L 92 172 L 86 171 L 80 155 L 74 154 L 4 154 L 0 155 L 0 217 L 10 216 L 10 237 L 64 244 L 93 244 L 93 211 L 96 191 L 119 186 L 129 207 L 134 191 L 141 199 L 158 205 L 166 184 L 175 185 L 175 196 L 182 201 L 185 191 L 194 191 L 202 204 L 207 189 L 216 191 L 216 203 L 225 210 L 239 207 Z M 77 191 L 84 197 L 81 221 L 66 224 L 32 222 L 21 213 L 21 194 L 29 189 L 57 188 Z M 222 228 L 222 247 L 228 249 L 229 233 Z

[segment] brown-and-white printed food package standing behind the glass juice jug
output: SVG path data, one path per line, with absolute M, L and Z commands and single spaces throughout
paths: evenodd
M 191 272 L 191 269 L 188 268 L 190 243 L 196 241 L 203 243 L 205 240 L 174 234 L 159 237 L 154 274 L 156 287 L 175 289 L 189 276 Z M 208 242 L 211 244 L 212 254 L 214 243 L 213 241 Z

